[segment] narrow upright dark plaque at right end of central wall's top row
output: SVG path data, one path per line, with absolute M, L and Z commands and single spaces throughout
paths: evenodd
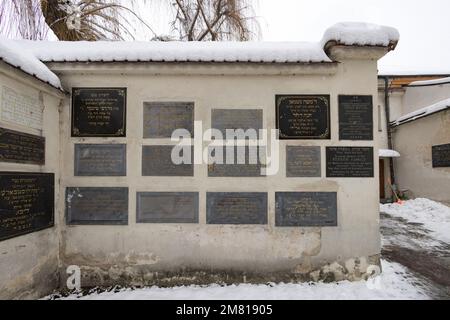
M 339 140 L 373 140 L 372 96 L 339 96 Z

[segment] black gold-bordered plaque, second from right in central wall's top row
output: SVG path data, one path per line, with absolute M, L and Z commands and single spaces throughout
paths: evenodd
M 279 139 L 330 139 L 329 95 L 277 95 Z

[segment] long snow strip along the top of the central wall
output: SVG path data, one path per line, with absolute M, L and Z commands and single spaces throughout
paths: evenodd
M 332 62 L 315 42 L 17 41 L 44 62 Z

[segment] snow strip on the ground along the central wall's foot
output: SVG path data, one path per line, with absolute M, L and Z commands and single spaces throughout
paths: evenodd
M 379 300 L 428 299 L 425 284 L 397 263 L 382 261 L 383 273 L 368 281 L 220 286 L 150 287 L 72 294 L 67 300 Z M 412 283 L 415 283 L 414 286 Z M 49 296 L 45 299 L 58 298 Z

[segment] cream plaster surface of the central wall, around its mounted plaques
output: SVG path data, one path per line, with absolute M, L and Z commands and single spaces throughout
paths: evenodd
M 56 64 L 52 67 L 58 69 Z M 62 275 L 64 267 L 74 264 L 82 267 L 84 286 L 121 282 L 150 284 L 167 279 L 166 283 L 170 284 L 201 283 L 216 279 L 208 278 L 211 274 L 226 274 L 229 281 L 242 281 L 243 275 L 249 281 L 288 280 L 297 276 L 318 278 L 330 272 L 336 279 L 352 279 L 364 275 L 369 264 L 378 265 L 378 175 L 327 177 L 326 170 L 327 147 L 369 147 L 373 148 L 373 171 L 378 172 L 376 108 L 372 110 L 373 140 L 339 140 L 338 121 L 339 95 L 371 95 L 373 105 L 377 105 L 376 59 L 359 57 L 339 64 L 316 66 L 109 64 L 106 68 L 74 64 L 61 68 L 61 73 L 68 90 L 78 87 L 127 88 L 126 137 L 72 137 L 71 99 L 66 99 L 62 108 L 60 193 L 69 192 L 67 205 L 62 197 L 58 203 L 58 223 L 63 235 Z M 152 158 L 152 154 L 162 151 L 153 152 L 151 146 L 170 145 L 171 142 L 168 138 L 144 138 L 145 104 L 193 103 L 194 119 L 202 121 L 203 129 L 211 126 L 213 109 L 257 109 L 262 111 L 263 128 L 270 130 L 276 128 L 276 95 L 329 95 L 331 138 L 280 140 L 279 171 L 266 177 L 208 176 L 207 164 L 195 165 L 193 175 L 189 170 L 180 170 L 177 176 L 143 175 L 146 170 L 173 172 L 170 168 L 159 167 L 158 170 L 153 166 L 152 161 L 157 158 Z M 75 175 L 78 144 L 126 144 L 126 175 Z M 319 147 L 319 174 L 287 177 L 287 146 Z M 146 154 L 144 166 L 143 153 Z M 117 203 L 122 196 L 113 196 L 116 193 L 107 190 L 102 193 L 100 189 L 82 189 L 85 187 L 128 188 L 125 191 L 128 201 Z M 79 201 L 77 204 L 72 202 L 83 192 L 89 192 L 89 197 L 94 199 L 90 209 L 97 199 L 97 203 L 109 201 L 107 203 L 116 209 L 125 205 L 128 215 L 109 215 L 107 220 L 94 223 L 94 217 L 84 217 L 89 220 L 86 223 L 83 217 L 77 216 L 77 213 L 83 215 L 81 209 L 76 209 Z M 198 221 L 192 217 L 185 223 L 167 223 L 163 219 L 154 223 L 145 215 L 138 216 L 138 207 L 143 201 L 150 201 L 149 194 L 142 193 L 149 192 L 183 193 L 185 197 L 180 200 L 180 206 L 195 208 L 198 203 Z M 263 207 L 266 199 L 266 219 L 252 220 L 257 221 L 255 224 L 221 224 L 220 219 L 210 220 L 208 206 L 213 205 L 215 198 L 207 201 L 207 196 L 209 193 L 218 196 L 223 192 L 251 193 L 249 197 L 262 199 L 255 203 Z M 275 199 L 276 193 L 282 192 L 335 194 L 337 223 L 330 220 L 325 226 L 277 226 Z M 198 199 L 185 193 L 196 193 Z M 260 194 L 263 194 L 261 198 Z M 70 207 L 70 217 L 66 216 L 66 206 Z M 114 219 L 115 223 L 109 219 Z M 219 222 L 211 223 L 214 221 Z M 328 273 L 313 273 L 326 265 Z M 197 271 L 207 272 L 194 277 Z M 180 274 L 185 277 L 170 278 Z M 227 278 L 222 277 L 224 279 Z

